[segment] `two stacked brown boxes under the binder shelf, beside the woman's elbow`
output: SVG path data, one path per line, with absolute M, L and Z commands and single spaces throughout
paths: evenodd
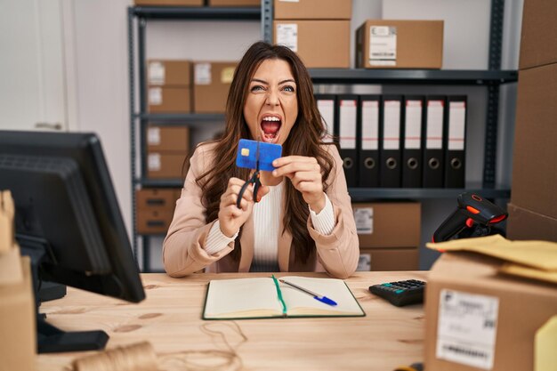
M 359 238 L 358 270 L 417 270 L 421 204 L 352 204 Z

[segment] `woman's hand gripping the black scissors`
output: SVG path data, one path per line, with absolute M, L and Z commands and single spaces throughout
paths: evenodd
M 221 231 L 227 237 L 232 237 L 246 222 L 254 210 L 254 184 L 247 186 L 240 201 L 240 208 L 236 206 L 238 193 L 246 181 L 238 178 L 230 178 L 228 187 L 222 193 L 221 205 L 219 206 L 219 223 Z M 259 187 L 258 197 L 261 199 L 269 193 L 269 187 Z

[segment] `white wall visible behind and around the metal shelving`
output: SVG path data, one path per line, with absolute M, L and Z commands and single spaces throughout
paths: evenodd
M 127 19 L 128 0 L 76 0 L 75 35 L 77 60 L 77 109 L 78 127 L 81 131 L 99 133 L 108 158 L 120 208 L 126 226 L 131 230 L 131 174 L 130 138 L 128 107 L 127 69 Z M 487 0 L 354 0 L 352 31 L 368 18 L 445 20 L 445 42 L 443 54 L 444 69 L 486 69 L 488 66 L 489 6 Z M 518 65 L 518 45 L 521 25 L 522 0 L 509 0 L 505 4 L 505 44 L 503 51 L 504 69 L 516 69 Z M 209 60 L 237 60 L 246 47 L 258 40 L 261 28 L 258 22 L 214 22 L 214 21 L 171 21 L 151 22 L 147 28 L 148 58 L 188 58 Z M 353 32 L 352 32 L 353 35 Z M 353 36 L 352 36 L 353 37 Z M 351 43 L 353 56 L 353 43 Z M 353 59 L 353 58 L 351 58 Z M 352 61 L 353 63 L 353 61 Z M 370 86 L 333 86 L 327 89 L 359 92 L 369 91 Z M 319 87 L 319 89 L 325 89 Z M 384 87 L 383 91 L 395 89 Z M 412 87 L 396 87 L 410 92 Z M 439 89 L 439 88 L 433 88 Z M 483 146 L 482 127 L 473 122 L 485 121 L 486 94 L 482 88 L 471 87 L 466 92 L 478 109 L 474 109 L 471 130 L 474 138 Z M 505 88 L 506 89 L 506 88 Z M 513 127 L 513 87 L 509 87 L 508 107 L 505 93 L 502 94 L 500 115 L 504 127 Z M 444 93 L 459 92 L 460 88 L 446 87 Z M 424 91 L 422 90 L 422 93 Z M 429 91 L 428 91 L 429 92 Z M 512 148 L 512 129 L 501 137 L 506 139 L 499 147 L 508 156 Z M 511 133 L 511 134 L 510 134 Z M 206 135 L 206 134 L 204 134 Z M 479 150 L 479 153 L 483 149 Z M 478 155 L 480 156 L 480 155 Z M 478 163 L 472 156 L 472 163 Z M 497 175 L 498 181 L 510 183 L 510 165 L 505 159 L 503 168 Z M 502 166 L 499 166 L 502 168 Z M 481 170 L 470 169 L 467 175 L 480 177 Z M 454 204 L 454 206 L 452 205 Z M 425 225 L 425 232 L 439 225 L 439 222 L 456 207 L 456 200 L 439 200 L 424 203 L 424 218 L 431 223 Z M 423 234 L 425 235 L 425 232 Z M 425 238 L 425 236 L 424 236 Z M 425 238 L 428 239 L 428 238 Z M 160 245 L 159 241 L 154 245 Z M 154 266 L 160 266 L 158 249 L 153 249 Z M 427 268 L 431 259 L 422 262 Z

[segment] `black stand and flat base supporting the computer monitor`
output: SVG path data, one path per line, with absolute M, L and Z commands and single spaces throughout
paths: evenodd
M 59 299 L 66 294 L 66 286 L 46 283 L 40 277 L 40 266 L 49 261 L 52 256 L 48 241 L 39 238 L 21 238 L 18 236 L 22 255 L 28 255 L 31 260 L 33 276 L 33 292 L 36 307 L 36 342 L 38 353 L 54 353 L 61 351 L 100 351 L 109 341 L 109 335 L 104 331 L 65 332 L 60 328 L 46 323 L 46 315 L 39 313 L 43 301 Z M 50 299 L 48 299 L 50 298 Z

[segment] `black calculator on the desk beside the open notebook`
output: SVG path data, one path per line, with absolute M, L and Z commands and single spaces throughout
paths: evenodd
M 406 281 L 386 282 L 369 286 L 369 292 L 388 300 L 392 305 L 404 305 L 424 302 L 425 282 L 417 279 Z

